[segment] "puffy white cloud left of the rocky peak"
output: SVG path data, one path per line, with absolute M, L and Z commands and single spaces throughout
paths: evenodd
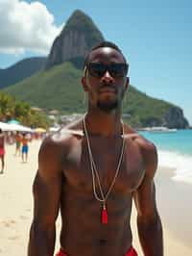
M 20 0 L 0 0 L 0 24 L 0 53 L 7 54 L 47 54 L 62 28 L 45 5 Z

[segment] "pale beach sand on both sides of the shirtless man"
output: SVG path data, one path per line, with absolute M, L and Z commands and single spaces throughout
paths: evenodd
M 30 144 L 29 161 L 14 156 L 14 145 L 6 147 L 5 173 L 0 175 L 0 256 L 26 256 L 33 216 L 32 184 L 36 175 L 40 141 Z M 163 224 L 166 256 L 192 255 L 192 185 L 172 180 L 172 169 L 159 167 L 156 175 L 157 208 Z M 143 255 L 132 209 L 133 245 Z M 57 221 L 59 249 L 60 218 Z

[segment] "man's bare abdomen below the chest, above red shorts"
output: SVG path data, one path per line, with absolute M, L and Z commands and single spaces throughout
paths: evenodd
M 60 245 L 69 255 L 124 255 L 132 245 L 132 199 L 115 205 L 108 199 L 108 224 L 101 221 L 100 202 L 94 198 L 88 201 L 71 199 L 61 208 L 63 224 L 60 233 Z

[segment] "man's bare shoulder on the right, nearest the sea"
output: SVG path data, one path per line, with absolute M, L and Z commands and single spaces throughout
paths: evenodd
M 156 145 L 152 141 L 139 135 L 130 126 L 125 126 L 125 135 L 132 141 L 132 143 L 135 143 L 136 146 L 138 146 L 147 173 L 154 176 L 157 167 Z

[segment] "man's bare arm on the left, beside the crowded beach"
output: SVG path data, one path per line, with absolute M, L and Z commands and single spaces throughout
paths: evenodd
M 61 150 L 58 142 L 47 138 L 38 154 L 34 181 L 34 219 L 30 230 L 28 256 L 53 256 L 56 219 L 60 209 Z

